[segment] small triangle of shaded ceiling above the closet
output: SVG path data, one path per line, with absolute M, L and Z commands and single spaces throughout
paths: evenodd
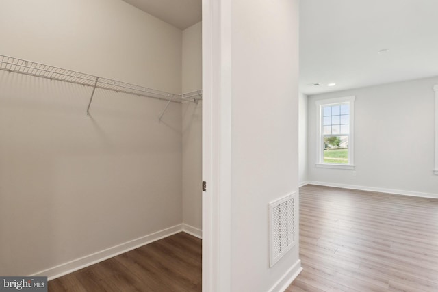
M 202 0 L 123 0 L 183 30 L 201 21 Z

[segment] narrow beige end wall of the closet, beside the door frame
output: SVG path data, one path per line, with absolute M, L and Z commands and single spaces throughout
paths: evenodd
M 202 89 L 202 23 L 183 31 L 183 92 Z M 183 222 L 202 229 L 202 101 L 184 103 Z

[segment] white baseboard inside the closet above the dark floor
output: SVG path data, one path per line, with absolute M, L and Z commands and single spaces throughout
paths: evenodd
M 194 235 L 196 237 L 200 237 L 199 232 L 201 230 L 198 230 L 197 228 L 194 228 L 187 224 L 178 224 L 170 228 L 157 231 L 156 233 L 151 233 L 150 235 L 145 235 L 144 237 L 121 243 L 119 245 L 113 246 L 112 248 L 107 248 L 99 252 L 94 252 L 94 254 L 89 254 L 88 256 L 77 258 L 73 261 L 69 261 L 68 263 L 63 263 L 61 265 L 57 265 L 56 267 L 45 269 L 44 271 L 40 271 L 30 276 L 47 276 L 48 280 L 53 280 L 66 274 L 70 274 L 73 271 L 77 271 L 84 267 L 94 265 L 95 263 L 105 261 L 108 258 L 123 254 L 124 252 L 129 252 L 130 250 L 140 248 L 140 246 L 152 243 L 153 241 L 157 241 L 159 239 L 169 237 L 170 235 L 180 233 L 181 231 L 184 231 L 185 233 L 189 233 L 190 235 Z

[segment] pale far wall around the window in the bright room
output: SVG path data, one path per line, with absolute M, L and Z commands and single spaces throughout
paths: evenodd
M 309 181 L 438 196 L 433 175 L 434 92 L 438 77 L 309 96 Z M 355 171 L 315 168 L 316 106 L 356 96 Z

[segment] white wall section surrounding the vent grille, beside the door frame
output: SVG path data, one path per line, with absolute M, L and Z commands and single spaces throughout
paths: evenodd
M 231 1 L 230 45 L 231 291 L 268 291 L 299 267 L 296 245 L 270 268 L 268 240 L 269 202 L 298 193 L 298 1 Z

